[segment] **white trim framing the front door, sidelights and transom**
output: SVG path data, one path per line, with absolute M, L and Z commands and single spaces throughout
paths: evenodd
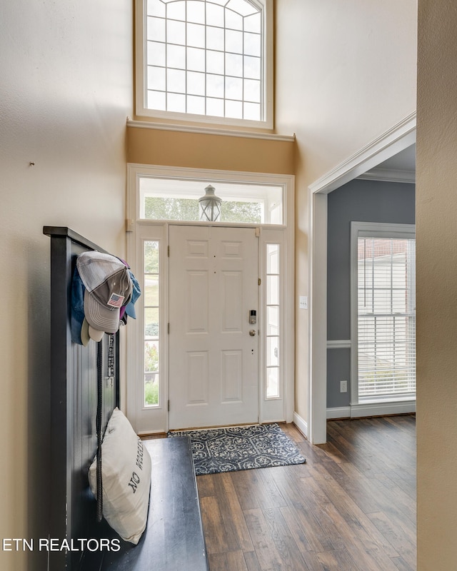
M 283 398 L 266 398 L 265 395 L 265 343 L 259 344 L 259 421 L 276 422 L 286 420 L 292 422 L 294 412 L 294 390 L 295 390 L 295 313 L 294 296 L 290 292 L 294 289 L 294 224 L 293 224 L 293 203 L 294 203 L 294 183 L 295 177 L 292 175 L 277 175 L 271 173 L 245 173 L 233 171 L 213 171 L 194 168 L 167 168 L 162 166 L 139 165 L 131 163 L 127 166 L 127 198 L 126 198 L 126 246 L 129 263 L 132 271 L 141 275 L 143 261 L 141 258 L 142 241 L 147 238 L 151 240 L 162 240 L 163 246 L 168 245 L 169 225 L 185 224 L 191 226 L 191 222 L 179 221 L 149 221 L 139 218 L 139 178 L 144 175 L 149 176 L 169 176 L 171 178 L 208 178 L 209 181 L 217 183 L 218 180 L 238 181 L 240 183 L 272 183 L 283 186 L 283 213 L 284 225 L 272 224 L 236 224 L 236 223 L 210 223 L 212 226 L 234 226 L 234 227 L 258 227 L 259 236 L 259 277 L 261 278 L 261 288 L 259 288 L 259 308 L 265 305 L 265 285 L 266 285 L 266 263 L 261 253 L 266 250 L 267 243 L 280 243 L 281 251 L 281 273 L 283 273 L 284 287 L 281 292 L 281 325 L 283 335 L 281 338 L 281 375 L 283 379 L 281 396 Z M 288 221 L 288 223 L 287 223 Z M 280 231 L 280 232 L 278 232 Z M 160 263 L 161 276 L 166 276 L 168 282 L 168 258 L 161 256 Z M 168 287 L 165 284 L 161 288 L 160 303 L 162 308 L 168 307 Z M 259 320 L 261 315 L 259 315 Z M 164 313 L 161 315 L 161 328 L 164 331 L 166 319 Z M 136 358 L 137 348 L 141 341 L 141 323 L 137 320 L 136 327 L 129 328 L 127 332 L 126 350 L 126 372 L 127 378 L 133 382 L 126 386 L 126 412 L 129 420 L 138 433 L 162 433 L 169 428 L 169 415 L 166 410 L 168 393 L 168 340 L 161 343 L 161 406 L 144 407 L 141 403 L 143 394 L 139 390 L 138 378 L 144 374 L 138 365 Z M 260 325 L 260 322 L 259 322 Z M 262 325 L 264 326 L 264 325 Z M 265 338 L 263 338 L 263 341 Z M 165 346 L 166 345 L 166 346 Z M 141 393 L 141 394 L 140 394 Z M 146 419 L 146 415 L 154 412 L 154 426 Z M 145 427 L 148 428 L 145 428 Z

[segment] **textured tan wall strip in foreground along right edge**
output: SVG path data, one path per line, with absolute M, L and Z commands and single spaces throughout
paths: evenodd
M 457 566 L 457 12 L 419 0 L 418 571 Z

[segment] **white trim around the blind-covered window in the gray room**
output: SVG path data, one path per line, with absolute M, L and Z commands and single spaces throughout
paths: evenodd
M 373 238 L 416 238 L 414 224 L 395 224 L 382 222 L 351 222 L 351 417 L 373 414 L 391 414 L 414 412 L 416 399 L 408 398 L 380 398 L 376 402 L 358 401 L 358 265 L 357 241 L 359 237 Z

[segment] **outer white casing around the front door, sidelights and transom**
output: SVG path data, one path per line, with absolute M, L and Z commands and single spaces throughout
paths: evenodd
M 271 236 L 279 233 L 283 236 L 282 243 L 286 246 L 285 256 L 283 256 L 283 271 L 284 271 L 284 350 L 283 350 L 283 378 L 284 378 L 284 398 L 283 410 L 281 415 L 274 415 L 273 412 L 269 413 L 268 407 L 263 407 L 263 403 L 259 402 L 259 422 L 274 422 L 278 420 L 286 420 L 292 422 L 293 413 L 295 409 L 294 394 L 295 394 L 295 325 L 294 325 L 294 297 L 291 292 L 294 291 L 294 216 L 293 208 L 295 201 L 295 177 L 293 175 L 283 175 L 275 173 L 245 173 L 236 171 L 216 171 L 216 170 L 202 170 L 193 168 L 176 168 L 164 166 L 151 166 L 139 165 L 136 163 L 129 163 L 128 169 L 128 182 L 127 182 L 127 196 L 126 196 L 126 251 L 128 253 L 128 261 L 131 265 L 132 271 L 138 271 L 140 266 L 139 261 L 139 234 L 144 233 L 148 227 L 163 228 L 164 240 L 168 246 L 168 226 L 169 225 L 201 225 L 203 223 L 192 223 L 187 221 L 146 221 L 138 218 L 139 216 L 139 192 L 138 182 L 139 177 L 147 173 L 148 176 L 169 176 L 173 178 L 207 178 L 215 183 L 217 180 L 237 181 L 239 183 L 271 183 L 281 184 L 284 188 L 283 196 L 283 209 L 285 213 L 284 225 L 253 225 L 253 224 L 236 224 L 236 223 L 209 223 L 212 226 L 232 226 L 232 227 L 258 227 L 260 229 L 259 251 L 261 249 L 262 241 L 272 241 Z M 287 223 L 288 222 L 288 223 Z M 146 230 L 147 231 L 147 230 Z M 151 238 L 154 239 L 154 238 Z M 260 252 L 259 252 L 260 253 Z M 168 260 L 166 261 L 166 275 L 168 280 Z M 168 294 L 167 294 L 168 295 Z M 168 308 L 168 297 L 166 297 Z M 263 303 L 261 295 L 259 295 L 259 304 Z M 139 340 L 139 332 L 137 327 L 131 326 L 126 332 L 126 379 L 136 379 L 138 372 L 136 371 L 134 358 L 136 345 Z M 168 351 L 168 343 L 167 343 Z M 260 351 L 259 351 L 260 353 Z M 168 353 L 167 353 L 168 358 Z M 263 366 L 263 365 L 262 365 Z M 259 369 L 260 370 L 260 369 Z M 168 385 L 168 377 L 166 380 Z M 124 394 L 126 395 L 126 403 L 123 403 L 123 408 L 129 417 L 132 425 L 139 434 L 149 433 L 163 433 L 169 430 L 168 413 L 166 415 L 166 422 L 161 423 L 160 426 L 153 428 L 144 428 L 138 414 L 138 394 L 136 382 L 126 382 Z M 260 398 L 259 391 L 259 398 Z M 168 386 L 166 399 L 168 399 Z

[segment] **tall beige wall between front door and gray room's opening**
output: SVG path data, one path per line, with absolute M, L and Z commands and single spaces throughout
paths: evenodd
M 416 0 L 276 0 L 276 130 L 297 141 L 296 295 L 309 295 L 308 186 L 415 109 Z M 297 310 L 306 421 L 308 326 Z

